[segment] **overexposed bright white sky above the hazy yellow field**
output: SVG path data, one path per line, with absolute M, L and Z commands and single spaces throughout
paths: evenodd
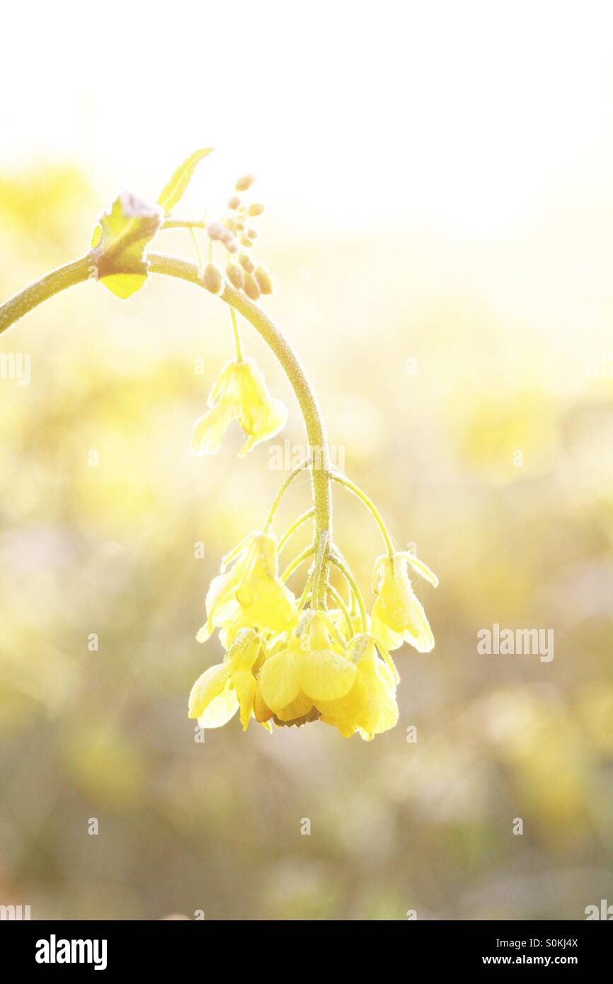
M 0 165 L 76 158 L 104 200 L 153 198 L 214 145 L 199 199 L 254 170 L 267 205 L 301 223 L 496 235 L 560 186 L 608 187 L 612 14 L 584 0 L 5 6 Z

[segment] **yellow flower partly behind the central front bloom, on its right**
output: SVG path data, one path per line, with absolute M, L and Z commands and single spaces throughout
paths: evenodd
M 358 731 L 370 741 L 398 721 L 398 670 L 385 646 L 367 633 L 355 636 L 347 657 L 357 667 L 351 690 L 337 701 L 319 701 L 317 707 L 321 719 L 337 727 L 343 738 Z

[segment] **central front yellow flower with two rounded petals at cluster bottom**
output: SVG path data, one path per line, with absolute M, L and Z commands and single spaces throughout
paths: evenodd
M 258 677 L 255 715 L 277 724 L 301 724 L 319 716 L 320 702 L 351 690 L 357 669 L 326 612 L 308 611 L 287 646 L 268 657 Z

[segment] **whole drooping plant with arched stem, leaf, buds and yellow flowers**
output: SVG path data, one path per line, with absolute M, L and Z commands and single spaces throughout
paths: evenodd
M 154 206 L 131 194 L 120 195 L 100 216 L 92 234 L 88 271 L 116 296 L 127 299 L 157 273 L 200 282 L 212 293 L 223 293 L 230 305 L 235 358 L 222 368 L 209 396 L 209 409 L 196 422 L 192 436 L 195 455 L 212 455 L 233 420 L 246 440 L 240 456 L 276 435 L 287 411 L 271 397 L 264 377 L 251 358 L 244 358 L 234 308 L 261 330 L 285 369 L 298 397 L 309 435 L 309 458 L 283 482 L 263 529 L 246 536 L 222 561 L 206 599 L 207 621 L 198 633 L 201 643 L 215 631 L 225 656 L 196 681 L 189 713 L 205 728 L 225 724 L 239 713 L 243 728 L 252 718 L 272 730 L 277 727 L 323 721 L 343 737 L 358 733 L 366 740 L 394 727 L 398 720 L 398 670 L 390 655 L 406 642 L 420 652 L 434 646 L 424 609 L 413 592 L 409 567 L 436 586 L 435 575 L 410 553 L 395 550 L 390 533 L 374 503 L 333 468 L 317 400 L 304 370 L 280 332 L 262 331 L 265 321 L 252 301 L 273 291 L 268 271 L 253 259 L 257 231 L 252 221 L 264 207 L 246 204 L 241 196 L 253 184 L 253 175 L 239 178 L 219 221 L 173 217 L 199 162 L 212 153 L 202 148 L 187 157 L 171 175 Z M 187 228 L 197 248 L 199 267 L 177 258 L 150 255 L 153 238 L 163 229 Z M 205 265 L 197 230 L 208 235 L 209 262 Z M 215 264 L 214 247 L 225 251 L 225 273 Z M 84 261 L 47 277 L 54 292 L 66 277 L 84 272 Z M 59 276 L 61 275 L 61 277 Z M 42 281 L 41 281 L 42 282 Z M 78 282 L 77 279 L 71 282 Z M 224 283 L 232 289 L 224 290 Z M 47 285 L 48 286 L 48 285 Z M 21 299 L 5 308 L 21 311 Z M 38 294 L 38 291 L 28 293 Z M 48 294 L 50 296 L 50 294 Z M 15 302 L 20 300 L 20 304 Z M 32 303 L 38 303 L 38 300 Z M 29 302 L 30 303 L 30 302 Z M 21 316 L 17 314 L 16 317 Z M 321 446 L 317 447 L 317 438 Z M 322 455 L 323 452 L 323 455 Z M 319 458 L 319 456 L 322 456 Z M 285 531 L 280 540 L 272 532 L 276 507 L 290 481 L 303 467 L 311 469 L 314 506 Z M 378 523 L 387 552 L 375 563 L 372 587 L 375 602 L 366 612 L 361 591 L 349 566 L 332 541 L 330 484 L 348 488 L 370 510 Z M 279 576 L 279 554 L 293 532 L 309 520 L 316 535 Z M 305 561 L 311 561 L 306 584 L 298 598 L 285 584 Z M 333 582 L 343 579 L 344 595 Z

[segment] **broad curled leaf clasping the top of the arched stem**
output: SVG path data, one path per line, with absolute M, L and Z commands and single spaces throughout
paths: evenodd
M 92 264 L 98 280 L 117 297 L 126 300 L 145 284 L 145 250 L 162 221 L 160 208 L 130 192 L 116 198 L 110 212 L 98 220 L 92 233 Z

